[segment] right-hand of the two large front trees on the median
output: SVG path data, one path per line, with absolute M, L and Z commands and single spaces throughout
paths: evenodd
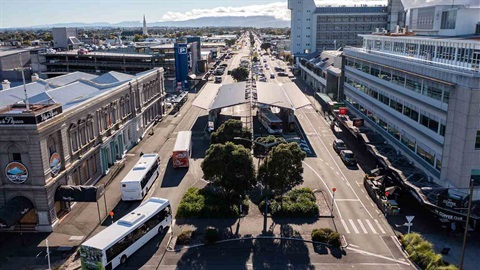
M 296 142 L 282 143 L 272 148 L 265 162 L 258 169 L 259 179 L 268 177 L 268 189 L 277 196 L 303 183 L 305 152 Z M 267 168 L 268 166 L 268 168 Z

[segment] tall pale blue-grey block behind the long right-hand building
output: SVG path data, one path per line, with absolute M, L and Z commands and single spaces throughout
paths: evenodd
M 315 51 L 361 46 L 358 34 L 404 26 L 405 12 L 400 0 L 388 6 L 317 7 L 314 0 L 289 0 L 291 48 L 295 56 Z

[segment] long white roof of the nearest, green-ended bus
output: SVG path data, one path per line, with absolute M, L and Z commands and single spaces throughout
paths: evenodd
M 108 248 L 111 244 L 113 244 L 113 241 L 116 239 L 122 239 L 132 228 L 150 218 L 150 216 L 152 216 L 157 209 L 165 208 L 169 204 L 170 202 L 167 199 L 151 197 L 132 212 L 123 216 L 121 219 L 108 226 L 103 231 L 85 241 L 82 246 L 88 246 L 100 250 Z M 133 219 L 130 218 L 130 216 L 138 215 L 140 215 L 141 218 L 132 222 Z

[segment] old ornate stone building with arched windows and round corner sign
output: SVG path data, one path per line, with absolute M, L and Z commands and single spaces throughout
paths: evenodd
M 0 92 L 0 228 L 51 231 L 71 204 L 60 186 L 90 185 L 165 113 L 163 69 L 80 72 Z M 18 228 L 18 227 L 17 227 Z

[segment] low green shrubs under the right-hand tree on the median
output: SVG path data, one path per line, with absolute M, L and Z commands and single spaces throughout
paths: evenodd
M 262 213 L 265 210 L 265 200 L 258 207 Z M 309 188 L 292 189 L 282 197 L 268 201 L 268 211 L 273 217 L 317 217 L 319 209 L 315 194 Z

